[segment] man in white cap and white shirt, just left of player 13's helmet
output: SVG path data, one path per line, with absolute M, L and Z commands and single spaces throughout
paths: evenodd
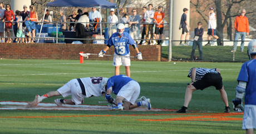
M 111 37 L 111 35 L 113 33 L 116 32 L 116 23 L 118 23 L 118 18 L 115 15 L 115 9 L 111 8 L 110 9 L 110 13 L 111 15 L 107 18 L 107 22 L 110 23 L 108 29 L 108 33 L 109 33 L 109 38 Z

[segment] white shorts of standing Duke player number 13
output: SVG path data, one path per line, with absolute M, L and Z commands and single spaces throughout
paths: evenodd
M 131 66 L 131 58 L 130 57 L 119 57 L 117 54 L 114 54 L 113 58 L 113 66 L 121 66 L 122 64 L 126 66 Z M 129 54 L 126 54 L 125 56 L 130 56 Z

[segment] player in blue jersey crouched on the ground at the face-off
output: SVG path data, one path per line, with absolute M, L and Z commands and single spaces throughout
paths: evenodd
M 140 95 L 140 85 L 135 80 L 125 75 L 112 76 L 107 82 L 102 82 L 102 88 L 106 88 L 106 100 L 111 103 L 115 101 L 117 107 L 112 107 L 110 110 L 132 110 L 139 106 L 146 106 L 151 109 L 150 99 L 142 96 L 140 102 L 135 103 Z M 116 99 L 111 97 L 111 92 L 116 95 Z M 124 101 L 124 106 L 122 106 Z

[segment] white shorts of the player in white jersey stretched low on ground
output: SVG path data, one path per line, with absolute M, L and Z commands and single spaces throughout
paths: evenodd
M 76 103 L 76 105 L 80 105 L 83 103 L 83 94 L 81 87 L 77 81 L 77 79 L 73 79 L 67 82 L 61 88 L 57 90 L 64 98 L 72 95 L 72 102 Z

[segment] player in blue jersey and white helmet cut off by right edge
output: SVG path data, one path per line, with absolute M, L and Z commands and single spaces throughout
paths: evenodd
M 243 112 L 243 130 L 254 133 L 256 128 L 256 39 L 248 44 L 250 61 L 242 65 L 237 81 L 237 93 L 232 100 L 235 112 Z M 245 93 L 245 97 L 244 97 Z M 244 107 L 242 99 L 244 97 Z

